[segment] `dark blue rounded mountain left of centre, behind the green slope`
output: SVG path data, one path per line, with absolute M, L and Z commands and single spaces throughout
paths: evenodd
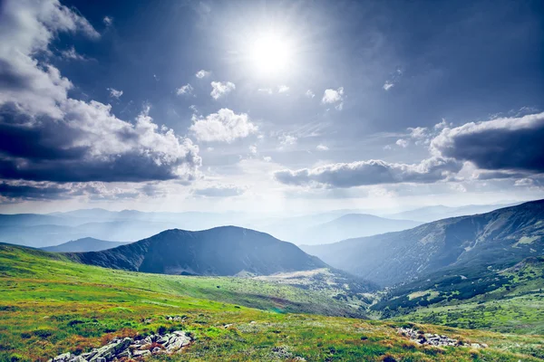
M 164 274 L 269 275 L 327 267 L 292 243 L 235 226 L 167 230 L 115 249 L 67 255 L 85 264 Z

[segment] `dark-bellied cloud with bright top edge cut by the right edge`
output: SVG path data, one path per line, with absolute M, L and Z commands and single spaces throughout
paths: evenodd
M 544 112 L 444 128 L 432 139 L 435 155 L 487 170 L 544 172 Z

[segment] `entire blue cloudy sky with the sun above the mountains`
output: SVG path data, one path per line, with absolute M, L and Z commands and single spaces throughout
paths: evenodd
M 544 197 L 541 1 L 0 4 L 0 212 Z

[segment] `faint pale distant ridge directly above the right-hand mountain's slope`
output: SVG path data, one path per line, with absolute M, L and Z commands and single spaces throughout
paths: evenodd
M 448 217 L 489 213 L 493 210 L 497 210 L 497 209 L 508 207 L 508 206 L 520 205 L 520 204 L 521 203 L 496 204 L 496 205 L 466 205 L 466 206 L 459 206 L 459 207 L 434 205 L 434 206 L 420 207 L 414 210 L 404 211 L 402 213 L 397 213 L 397 214 L 385 214 L 384 217 L 388 217 L 391 219 L 417 220 L 417 221 L 421 221 L 425 223 L 430 223 L 432 221 L 446 219 Z

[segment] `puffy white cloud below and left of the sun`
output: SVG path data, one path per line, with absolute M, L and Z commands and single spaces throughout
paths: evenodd
M 221 109 L 206 118 L 193 116 L 189 130 L 200 141 L 230 143 L 256 133 L 257 126 L 251 123 L 246 113 L 236 114 L 232 110 Z

